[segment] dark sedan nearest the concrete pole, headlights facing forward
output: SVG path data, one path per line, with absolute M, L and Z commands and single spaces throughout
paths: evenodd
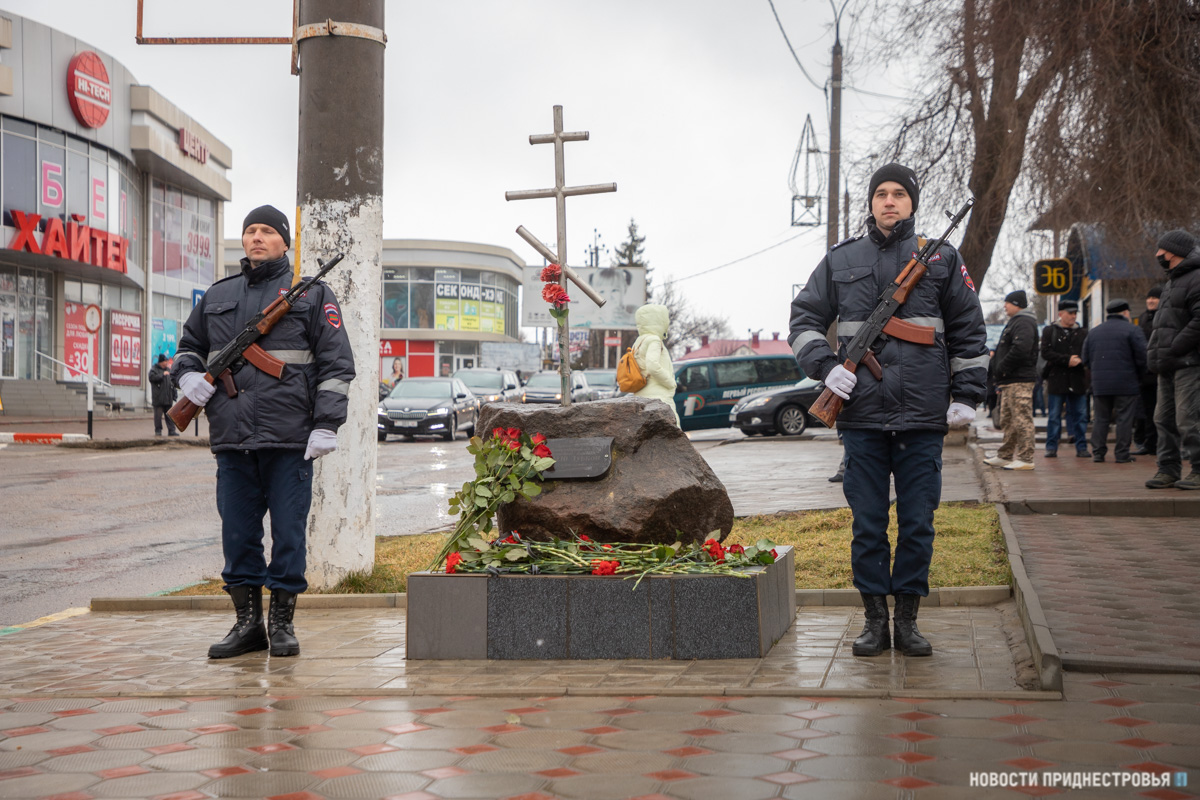
M 451 441 L 458 431 L 475 432 L 479 398 L 456 378 L 406 378 L 379 402 L 379 441 L 388 434 L 442 437 Z

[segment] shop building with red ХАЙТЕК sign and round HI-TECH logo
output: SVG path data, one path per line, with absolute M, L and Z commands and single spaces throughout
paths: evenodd
M 223 263 L 232 163 L 112 56 L 0 12 L 0 380 L 145 404 Z

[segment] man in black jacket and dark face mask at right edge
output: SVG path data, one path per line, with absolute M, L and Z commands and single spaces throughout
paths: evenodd
M 1186 230 L 1158 240 L 1168 270 L 1150 336 L 1150 368 L 1158 373 L 1158 474 L 1146 488 L 1200 489 L 1200 248 Z M 1192 473 L 1180 479 L 1183 459 Z

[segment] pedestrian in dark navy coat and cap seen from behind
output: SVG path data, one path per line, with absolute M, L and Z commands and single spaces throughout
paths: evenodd
M 1109 425 L 1116 421 L 1114 455 L 1118 464 L 1134 461 L 1129 455 L 1133 419 L 1138 414 L 1138 392 L 1146 373 L 1146 337 L 1129 320 L 1129 303 L 1111 300 L 1108 319 L 1084 342 L 1084 366 L 1092 372 L 1092 461 L 1103 462 L 1109 451 Z

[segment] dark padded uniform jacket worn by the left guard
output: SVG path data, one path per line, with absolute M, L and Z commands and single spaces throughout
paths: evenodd
M 205 369 L 211 355 L 292 287 L 286 255 L 253 269 L 248 259 L 241 265 L 241 275 L 214 283 L 192 308 L 175 353 L 176 383 Z M 205 407 L 212 451 L 304 450 L 313 428 L 337 431 L 346 421 L 354 355 L 332 289 L 318 283 L 306 291 L 258 344 L 286 363 L 283 375 L 275 379 L 246 363 L 234 374 L 236 397 L 217 381 Z

